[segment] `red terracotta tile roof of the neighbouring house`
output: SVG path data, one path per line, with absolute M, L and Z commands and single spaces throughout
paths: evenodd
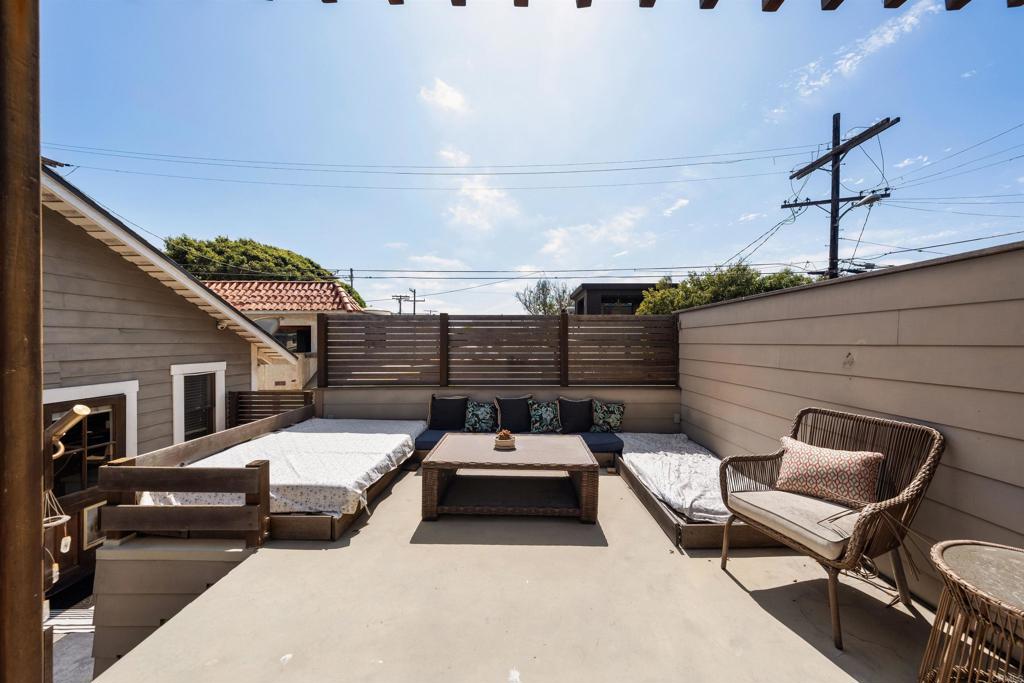
M 338 283 L 209 280 L 203 284 L 239 310 L 362 310 Z

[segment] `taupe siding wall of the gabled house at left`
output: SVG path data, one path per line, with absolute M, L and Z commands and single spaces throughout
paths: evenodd
M 249 343 L 58 213 L 43 209 L 44 387 L 138 380 L 138 452 L 172 441 L 172 365 L 224 360 L 251 386 Z

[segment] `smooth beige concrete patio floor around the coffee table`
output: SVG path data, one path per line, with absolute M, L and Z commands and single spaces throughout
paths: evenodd
M 675 551 L 616 476 L 600 522 L 420 521 L 406 473 L 336 544 L 271 543 L 98 680 L 912 681 L 931 614 L 777 550 Z

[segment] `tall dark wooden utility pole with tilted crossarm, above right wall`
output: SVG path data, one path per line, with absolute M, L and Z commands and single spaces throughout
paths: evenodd
M 803 168 L 794 171 L 790 176 L 791 180 L 800 180 L 804 178 L 819 168 L 823 167 L 825 164 L 830 164 L 829 172 L 831 173 L 831 197 L 827 200 L 818 201 L 804 201 L 804 202 L 786 202 L 782 204 L 783 209 L 795 209 L 797 207 L 805 206 L 820 206 L 823 204 L 828 205 L 828 269 L 825 273 L 829 279 L 839 278 L 839 221 L 846 215 L 846 212 L 857 206 L 864 206 L 868 204 L 873 204 L 881 199 L 889 197 L 889 187 L 886 187 L 882 193 L 868 193 L 867 195 L 858 195 L 857 197 L 840 197 L 840 179 L 842 173 L 843 158 L 851 151 L 855 150 L 867 140 L 879 135 L 884 130 L 895 126 L 899 123 L 899 117 L 891 119 L 886 117 L 882 121 L 878 122 L 873 126 L 867 128 L 866 130 L 857 133 L 846 142 L 841 140 L 842 132 L 840 130 L 840 115 L 833 115 L 833 143 L 831 148 L 824 155 L 821 155 L 816 160 L 804 166 Z M 853 202 L 853 206 L 849 207 L 846 211 L 840 212 L 840 206 L 847 202 Z

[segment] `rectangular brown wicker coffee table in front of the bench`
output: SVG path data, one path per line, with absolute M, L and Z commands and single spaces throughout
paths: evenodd
M 504 470 L 509 475 L 459 470 Z M 517 434 L 515 451 L 497 451 L 494 434 L 445 434 L 423 459 L 423 519 L 543 515 L 594 523 L 597 477 L 597 461 L 579 435 Z

